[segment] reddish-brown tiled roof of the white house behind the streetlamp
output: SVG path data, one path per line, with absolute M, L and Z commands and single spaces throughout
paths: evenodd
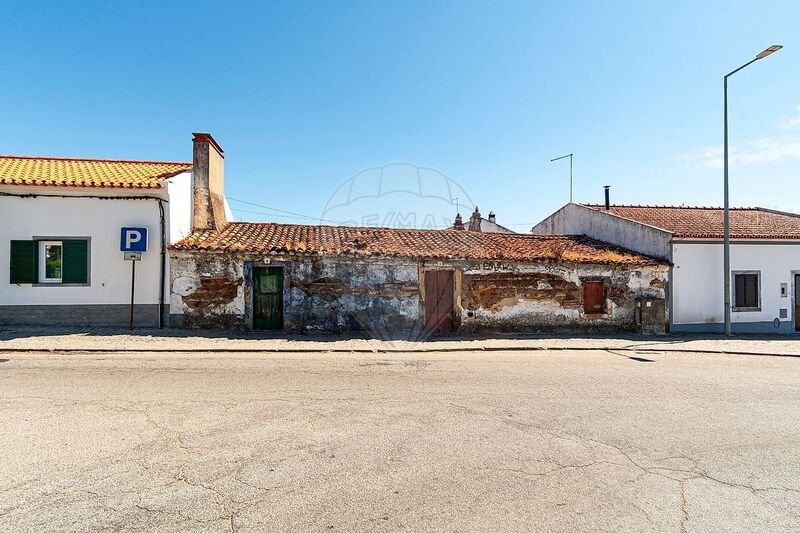
M 605 211 L 603 205 L 586 207 Z M 679 238 L 723 238 L 721 207 L 612 205 L 610 211 Z M 730 228 L 733 239 L 800 239 L 800 215 L 763 207 L 732 208 Z

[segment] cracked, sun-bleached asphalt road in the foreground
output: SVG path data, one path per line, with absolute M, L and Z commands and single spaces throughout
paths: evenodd
M 800 359 L 0 353 L 3 531 L 798 531 Z

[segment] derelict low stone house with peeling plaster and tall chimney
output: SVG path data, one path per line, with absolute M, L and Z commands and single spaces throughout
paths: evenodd
M 629 330 L 665 298 L 667 261 L 585 236 L 228 222 L 222 152 L 200 148 L 192 232 L 169 252 L 176 327 Z

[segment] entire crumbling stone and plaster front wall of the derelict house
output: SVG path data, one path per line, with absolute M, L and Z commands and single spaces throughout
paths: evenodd
M 665 298 L 668 267 L 412 261 L 171 252 L 175 327 L 249 329 L 253 267 L 284 270 L 284 329 L 416 336 L 424 273 L 455 271 L 455 326 L 464 332 L 633 330 L 638 297 Z M 603 281 L 604 313 L 583 311 L 583 281 Z

